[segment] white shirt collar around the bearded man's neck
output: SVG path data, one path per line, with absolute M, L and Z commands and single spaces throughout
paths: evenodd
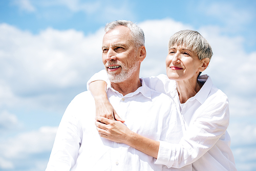
M 139 87 L 135 92 L 126 94 L 126 95 L 123 96 L 123 97 L 132 97 L 132 96 L 134 96 L 134 95 L 137 95 L 137 94 L 141 93 L 143 96 L 145 96 L 145 97 L 151 99 L 151 89 L 146 86 L 146 84 L 145 84 L 145 82 L 144 82 L 143 79 L 140 78 L 140 82 L 141 82 L 141 85 L 142 85 L 141 87 Z M 113 89 L 113 88 L 111 87 L 110 82 L 108 82 L 108 90 L 111 90 L 111 91 L 113 91 L 113 92 L 116 92 L 117 94 L 119 94 L 119 95 L 122 96 L 121 93 L 119 93 L 118 91 L 116 91 L 115 89 Z M 107 91 L 108 91 L 108 90 L 107 90 Z

